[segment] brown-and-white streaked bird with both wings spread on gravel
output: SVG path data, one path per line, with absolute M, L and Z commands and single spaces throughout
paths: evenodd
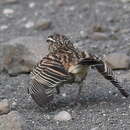
M 55 92 L 59 94 L 64 84 L 78 83 L 80 95 L 90 66 L 94 66 L 123 96 L 128 97 L 112 69 L 101 58 L 74 47 L 73 42 L 64 35 L 48 36 L 47 43 L 49 54 L 33 68 L 32 85 L 28 88 L 29 94 L 39 106 L 51 103 Z

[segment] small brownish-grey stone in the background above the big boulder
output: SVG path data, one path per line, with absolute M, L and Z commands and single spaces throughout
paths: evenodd
M 50 28 L 51 25 L 52 25 L 52 22 L 49 19 L 40 19 L 35 23 L 34 28 L 40 29 L 40 30 L 46 30 Z

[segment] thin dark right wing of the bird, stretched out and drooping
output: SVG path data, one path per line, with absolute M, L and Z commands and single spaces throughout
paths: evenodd
M 117 80 L 117 77 L 111 67 L 101 58 L 95 55 L 90 55 L 90 57 L 82 59 L 79 64 L 94 66 L 105 79 L 109 80 L 121 92 L 123 96 L 128 97 L 129 94 L 120 85 L 120 82 Z

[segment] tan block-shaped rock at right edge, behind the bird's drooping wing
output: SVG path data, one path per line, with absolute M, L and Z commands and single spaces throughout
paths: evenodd
M 130 67 L 130 57 L 122 53 L 113 53 L 104 57 L 104 60 L 112 69 L 128 69 Z

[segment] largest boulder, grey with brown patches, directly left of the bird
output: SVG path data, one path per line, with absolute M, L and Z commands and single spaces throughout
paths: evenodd
M 29 73 L 32 67 L 48 53 L 44 38 L 20 37 L 0 44 L 0 71 L 9 75 Z

